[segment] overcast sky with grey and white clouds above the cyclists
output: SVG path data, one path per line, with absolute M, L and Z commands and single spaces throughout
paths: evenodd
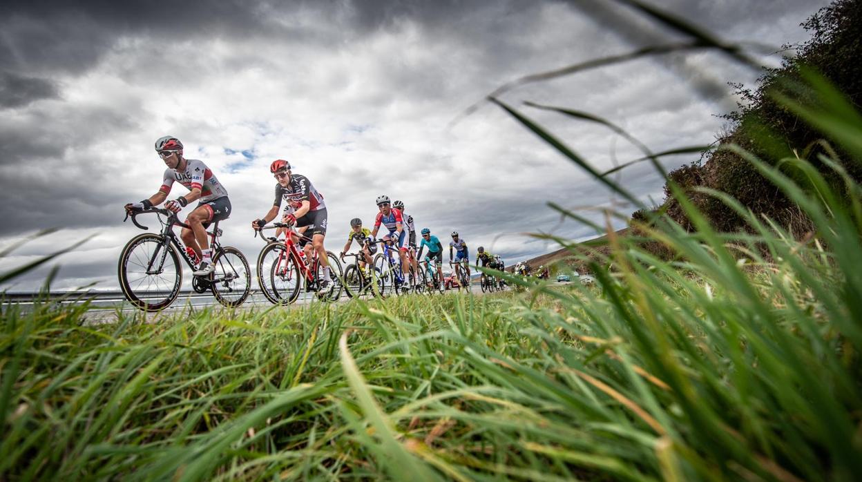
M 806 40 L 799 23 L 826 3 L 655 2 L 728 41 L 774 50 Z M 62 228 L 0 259 L 0 272 L 96 234 L 59 258 L 53 288 L 105 290 L 117 288 L 120 249 L 141 232 L 122 222 L 123 204 L 159 188 L 165 166 L 153 141 L 162 135 L 177 136 L 185 157 L 225 185 L 234 212 L 223 242 L 252 264 L 262 243 L 249 224 L 272 206 L 268 166 L 279 158 L 322 191 L 334 252 L 351 218 L 372 223 L 380 194 L 402 199 L 416 227 L 444 242 L 459 230 L 471 258 L 479 245 L 509 265 L 555 249 L 525 232 L 588 239 L 590 228 L 560 222 L 546 203 L 601 219 L 618 200 L 498 107 L 463 113 L 515 78 L 683 38 L 608 0 L 7 1 L 0 32 L 0 248 Z M 757 59 L 775 66 L 779 56 Z M 661 151 L 714 141 L 715 115 L 734 104 L 729 92 L 692 85 L 756 77 L 716 53 L 676 54 L 502 99 L 606 169 L 639 153 L 606 128 L 523 102 L 593 112 Z M 622 181 L 661 202 L 663 182 L 648 166 Z M 170 198 L 185 192 L 174 185 Z M 38 286 L 45 272 L 11 289 Z

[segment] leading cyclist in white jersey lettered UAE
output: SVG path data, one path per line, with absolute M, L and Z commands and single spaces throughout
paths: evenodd
M 228 191 L 218 182 L 215 174 L 203 164 L 203 161 L 183 157 L 183 143 L 176 137 L 172 135 L 159 137 L 155 143 L 155 149 L 167 166 L 159 192 L 140 203 L 126 204 L 126 210 L 148 210 L 165 201 L 167 195 L 171 193 L 174 182 L 184 185 L 190 192 L 165 203 L 165 209 L 178 213 L 189 203 L 197 201 L 195 209 L 185 218 L 185 223 L 191 229 L 183 228 L 180 238 L 186 247 L 191 247 L 197 259 L 201 260 L 193 274 L 208 275 L 215 271 L 215 266 L 213 266 L 212 252 L 207 240 L 207 227 L 211 222 L 228 219 L 230 216 Z

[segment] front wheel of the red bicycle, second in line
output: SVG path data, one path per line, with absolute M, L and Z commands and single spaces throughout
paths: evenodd
M 284 247 L 284 243 L 271 242 L 258 255 L 258 283 L 260 291 L 272 304 L 290 304 L 299 297 L 299 266 Z

